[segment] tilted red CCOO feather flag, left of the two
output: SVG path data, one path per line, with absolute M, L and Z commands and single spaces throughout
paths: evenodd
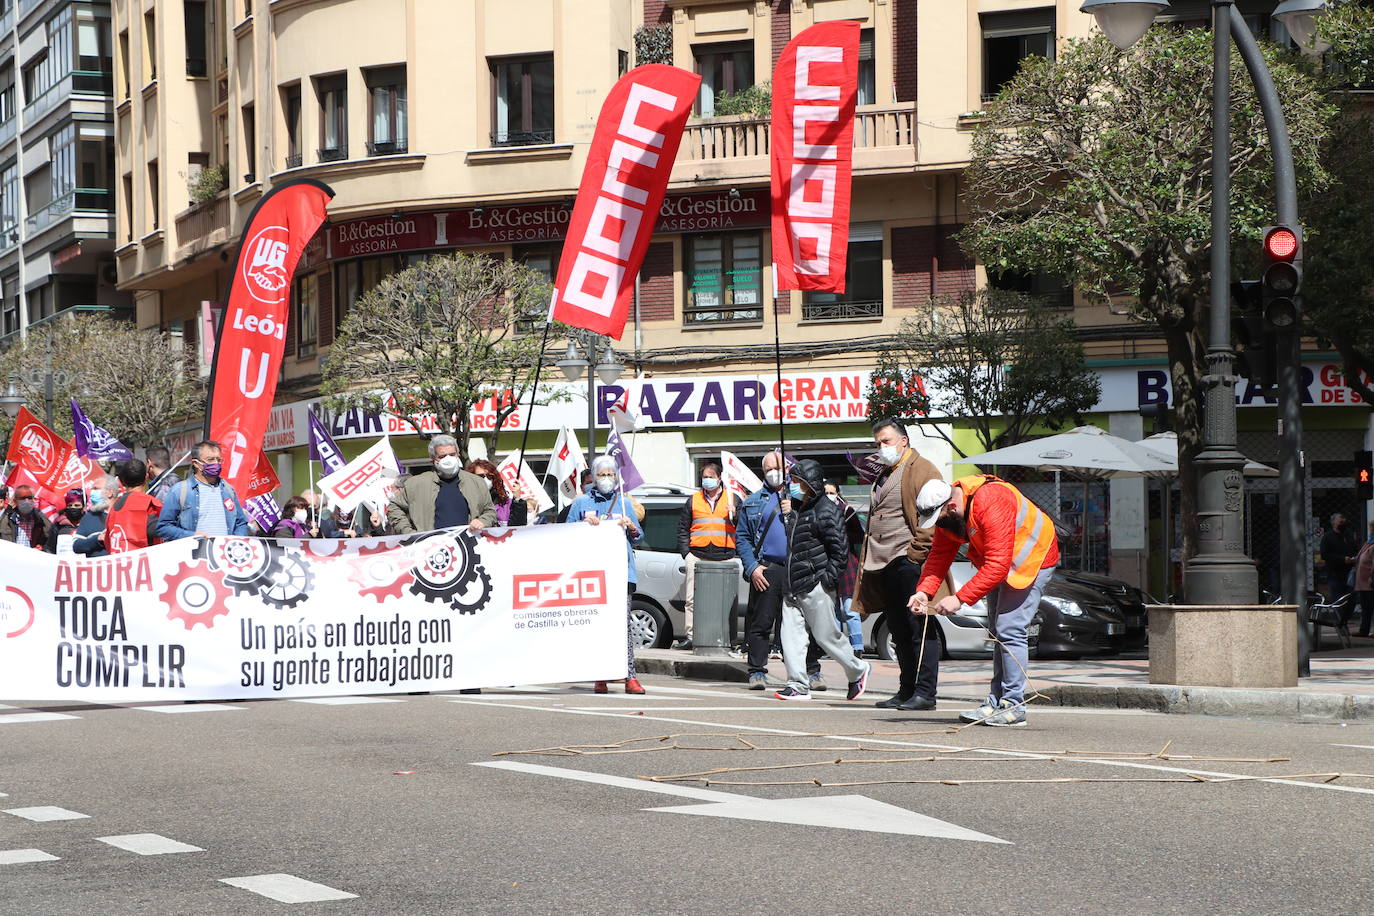
M 695 73 L 650 63 L 611 87 L 577 188 L 550 320 L 620 339 L 699 85 Z

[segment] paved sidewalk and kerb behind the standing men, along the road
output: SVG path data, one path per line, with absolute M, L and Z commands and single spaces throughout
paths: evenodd
M 1334 640 L 1327 640 L 1333 645 Z M 642 650 L 636 654 L 642 672 L 701 680 L 741 683 L 747 678 L 745 663 L 731 658 L 702 658 L 680 650 Z M 872 674 L 868 692 L 874 699 L 897 688 L 897 663 L 868 658 Z M 1281 718 L 1374 720 L 1374 640 L 1356 639 L 1351 648 L 1326 648 L 1312 655 L 1312 676 L 1297 687 L 1238 689 L 1226 687 L 1173 687 L 1150 684 L 1146 658 L 1103 658 L 1079 661 L 1030 661 L 1030 685 L 1055 706 L 1140 709 L 1160 713 L 1201 715 L 1263 715 Z M 945 661 L 940 663 L 941 700 L 981 700 L 987 696 L 992 665 L 988 661 Z M 822 673 L 830 695 L 845 688 L 840 666 L 826 659 Z M 768 665 L 771 681 L 782 685 L 782 662 Z

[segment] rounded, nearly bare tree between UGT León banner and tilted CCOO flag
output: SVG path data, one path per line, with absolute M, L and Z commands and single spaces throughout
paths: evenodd
M 349 310 L 322 369 L 320 393 L 335 411 L 363 408 L 425 420 L 458 439 L 469 457 L 473 405 L 500 397 L 496 431 L 528 398 L 543 358 L 537 330 L 551 288 L 518 261 L 485 254 L 429 258 L 376 284 Z M 429 438 L 429 433 L 423 433 Z

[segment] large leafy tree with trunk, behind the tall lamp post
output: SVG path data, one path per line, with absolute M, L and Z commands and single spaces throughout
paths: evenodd
M 973 139 L 966 246 L 991 271 L 1046 272 L 1092 299 L 1134 297 L 1162 332 L 1173 380 L 1183 512 L 1195 505 L 1212 210 L 1212 33 L 1154 27 L 1129 51 L 1102 36 L 1029 58 Z M 1293 56 L 1264 45 L 1298 188 L 1327 184 L 1333 110 Z M 1272 159 L 1254 87 L 1231 65 L 1231 235 L 1274 221 Z M 1228 277 L 1230 280 L 1230 277 Z M 1191 544 L 1186 544 L 1187 551 Z

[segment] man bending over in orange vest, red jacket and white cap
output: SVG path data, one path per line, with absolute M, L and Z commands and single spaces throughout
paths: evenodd
M 992 691 L 978 709 L 959 714 L 965 722 L 1026 724 L 1026 626 L 1059 563 L 1054 522 L 1021 490 L 991 474 L 963 477 L 954 486 L 930 481 L 916 494 L 921 526 L 936 536 L 916 593 L 914 614 L 958 614 L 965 604 L 988 599 L 988 623 L 998 647 L 992 655 Z M 956 593 L 930 604 L 959 545 L 969 542 L 977 573 Z

